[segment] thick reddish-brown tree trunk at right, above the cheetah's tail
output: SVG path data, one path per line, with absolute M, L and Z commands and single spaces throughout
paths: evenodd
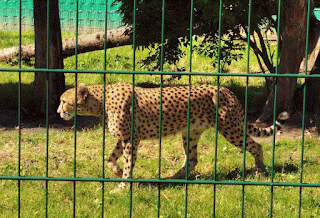
M 280 47 L 280 74 L 299 73 L 300 64 L 305 57 L 307 11 L 308 1 L 286 0 L 282 7 L 281 17 L 281 47 Z M 312 11 L 312 10 L 311 10 Z M 312 21 L 312 20 L 311 20 Z M 308 52 L 311 53 L 318 40 L 317 28 L 310 31 Z M 277 82 L 277 113 L 287 111 L 290 115 L 293 112 L 293 95 L 297 85 L 296 78 L 278 78 Z M 274 89 L 271 91 L 263 113 L 258 122 L 268 121 L 273 116 Z

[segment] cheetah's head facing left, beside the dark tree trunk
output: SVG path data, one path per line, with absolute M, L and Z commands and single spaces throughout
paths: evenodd
M 60 97 L 60 105 L 58 113 L 60 117 L 65 120 L 70 120 L 75 113 L 75 88 L 68 89 Z M 77 87 L 77 115 L 87 115 L 87 98 L 88 98 L 88 87 L 86 84 L 81 83 Z

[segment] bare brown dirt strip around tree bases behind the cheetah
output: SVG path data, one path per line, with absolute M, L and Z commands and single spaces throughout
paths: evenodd
M 254 115 L 249 115 L 249 121 L 254 122 L 257 118 Z M 90 128 L 95 123 L 98 123 L 99 119 L 93 117 L 77 117 L 77 129 Z M 73 128 L 74 121 L 65 121 L 59 118 L 49 121 L 51 128 L 68 129 Z M 277 134 L 279 138 L 298 138 L 302 136 L 302 114 L 297 113 L 291 119 L 289 119 L 280 133 Z M 22 119 L 21 128 L 23 133 L 34 133 L 38 131 L 44 131 L 46 129 L 45 120 L 32 121 Z M 18 129 L 18 113 L 13 110 L 0 110 L 0 129 L 5 130 L 17 130 Z M 318 129 L 312 119 L 312 116 L 306 115 L 305 117 L 305 137 L 313 136 L 319 137 Z M 320 138 L 320 137 L 319 137 Z

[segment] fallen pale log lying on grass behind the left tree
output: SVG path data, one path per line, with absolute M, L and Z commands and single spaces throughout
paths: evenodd
M 132 39 L 125 32 L 130 31 L 129 27 L 122 27 L 118 29 L 111 29 L 107 31 L 106 48 L 114 48 L 123 45 L 132 44 Z M 88 35 L 78 37 L 78 54 L 103 50 L 104 49 L 104 37 L 105 32 L 97 32 Z M 75 55 L 76 39 L 68 38 L 62 40 L 62 56 L 67 58 Z M 23 45 L 21 47 L 21 59 L 28 61 L 31 57 L 34 57 L 34 44 Z M 4 48 L 0 50 L 0 61 L 11 60 L 19 56 L 19 46 Z

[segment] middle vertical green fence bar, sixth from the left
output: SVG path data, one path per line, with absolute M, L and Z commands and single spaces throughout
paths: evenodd
M 165 18 L 165 0 L 162 1 L 161 13 L 161 54 L 160 54 L 160 72 L 163 72 L 163 54 L 164 54 L 164 18 Z M 163 74 L 160 75 L 160 108 L 159 108 L 159 163 L 158 163 L 158 179 L 161 179 L 161 145 L 162 145 L 162 91 L 163 91 Z M 161 189 L 158 183 L 158 211 L 157 216 L 160 217 L 161 208 Z

